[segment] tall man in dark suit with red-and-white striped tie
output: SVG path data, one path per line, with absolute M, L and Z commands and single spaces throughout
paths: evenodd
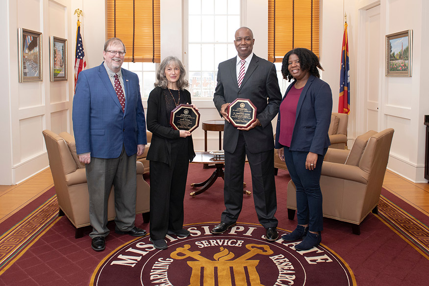
M 225 118 L 226 209 L 221 223 L 211 233 L 222 234 L 233 227 L 243 205 L 244 164 L 246 156 L 252 171 L 253 198 L 259 222 L 267 230 L 266 239 L 278 239 L 276 185 L 274 182 L 274 138 L 271 120 L 278 112 L 281 94 L 276 67 L 252 53 L 252 31 L 241 27 L 235 32 L 236 57 L 219 64 L 213 101 Z M 241 62 L 240 60 L 244 60 Z M 244 71 L 242 68 L 244 66 Z M 244 75 L 244 77 L 243 77 Z M 235 128 L 226 108 L 237 98 L 250 99 L 256 106 L 256 121 L 248 128 Z

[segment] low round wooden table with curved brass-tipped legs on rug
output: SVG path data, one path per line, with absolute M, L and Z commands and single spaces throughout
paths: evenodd
M 225 164 L 225 156 L 219 156 L 219 155 L 213 155 L 210 154 L 210 152 L 196 152 L 195 158 L 191 162 L 192 164 L 215 164 L 216 170 L 213 172 L 213 174 L 205 180 L 204 182 L 194 182 L 191 183 L 191 187 L 201 187 L 199 190 L 191 192 L 189 195 L 192 197 L 195 197 L 203 192 L 205 192 L 215 181 L 217 178 L 221 177 L 225 180 L 225 171 L 224 171 L 224 164 Z M 243 187 L 246 186 L 246 183 L 243 183 Z M 244 194 L 251 195 L 252 193 L 248 190 L 243 190 Z

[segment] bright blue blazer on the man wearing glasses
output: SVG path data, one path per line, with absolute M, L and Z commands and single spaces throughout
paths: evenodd
M 147 144 L 146 120 L 136 74 L 122 69 L 125 112 L 104 65 L 84 70 L 77 78 L 73 99 L 73 130 L 77 154 L 117 158 L 125 146 L 128 156 L 137 144 Z

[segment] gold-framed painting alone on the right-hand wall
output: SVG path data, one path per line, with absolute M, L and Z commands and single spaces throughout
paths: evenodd
M 411 77 L 413 30 L 386 35 L 386 77 Z

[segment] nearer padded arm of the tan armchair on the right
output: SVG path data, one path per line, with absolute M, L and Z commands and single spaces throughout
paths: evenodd
M 357 166 L 323 162 L 322 176 L 335 177 L 355 182 L 368 183 L 368 173 Z

